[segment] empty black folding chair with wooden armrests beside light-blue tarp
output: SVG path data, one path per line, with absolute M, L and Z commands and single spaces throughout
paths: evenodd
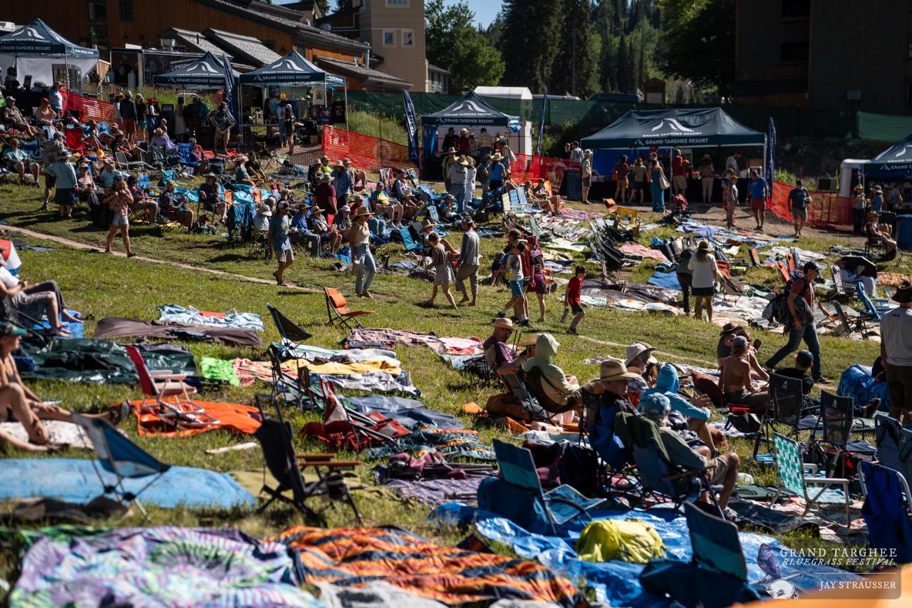
M 361 525 L 361 514 L 342 477 L 343 471 L 354 470 L 361 463 L 357 460 L 334 460 L 335 454 L 295 456 L 294 435 L 291 425 L 282 416 L 281 405 L 264 394 L 257 394 L 255 401 L 263 424 L 254 431 L 254 437 L 263 446 L 266 468 L 279 482 L 278 487 L 270 487 L 264 482 L 260 493 L 268 495 L 269 499 L 257 509 L 257 512 L 262 513 L 275 500 L 280 500 L 292 505 L 306 516 L 316 518 L 316 512 L 307 507 L 305 501 L 308 498 L 326 497 L 330 500 L 345 500 L 355 512 L 358 525 Z M 278 420 L 265 415 L 263 405 L 266 402 L 275 405 Z M 316 471 L 317 480 L 307 483 L 301 475 L 302 467 L 312 467 Z M 291 498 L 285 496 L 285 492 L 289 490 Z

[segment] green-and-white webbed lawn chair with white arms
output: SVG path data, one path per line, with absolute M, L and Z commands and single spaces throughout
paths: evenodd
M 851 524 L 849 480 L 843 477 L 804 477 L 804 469 L 816 471 L 817 466 L 804 462 L 801 445 L 797 441 L 778 433 L 773 437 L 772 444 L 775 450 L 776 462 L 776 494 L 772 497 L 770 505 L 772 506 L 775 503 L 783 490 L 804 498 L 805 505 L 802 515 L 811 510 L 814 505 L 845 502 L 845 518 Z M 821 488 L 819 491 L 808 492 L 807 487 L 809 484 L 821 486 Z M 842 486 L 842 496 L 828 492 L 827 490 L 831 486 Z

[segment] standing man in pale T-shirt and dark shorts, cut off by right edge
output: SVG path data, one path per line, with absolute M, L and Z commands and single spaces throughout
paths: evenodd
M 899 306 L 880 321 L 880 358 L 886 368 L 890 417 L 912 419 L 912 284 L 903 281 L 893 293 Z

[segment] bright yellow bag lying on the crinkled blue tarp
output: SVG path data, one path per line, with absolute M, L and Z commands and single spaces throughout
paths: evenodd
M 598 519 L 576 540 L 580 560 L 647 563 L 665 555 L 656 529 L 638 519 Z

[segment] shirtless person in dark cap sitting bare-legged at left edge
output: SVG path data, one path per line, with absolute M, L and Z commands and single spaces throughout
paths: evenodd
M 49 437 L 42 420 L 73 422 L 73 414 L 57 405 L 47 404 L 33 393 L 19 377 L 13 353 L 26 330 L 12 323 L 0 326 L 0 422 L 19 422 L 26 428 L 28 442 L 36 446 L 47 444 Z M 106 414 L 84 414 L 88 418 L 104 418 L 112 425 L 123 416 L 122 405 Z M 2 439 L 2 438 L 0 438 Z M 14 443 L 13 445 L 17 445 Z

